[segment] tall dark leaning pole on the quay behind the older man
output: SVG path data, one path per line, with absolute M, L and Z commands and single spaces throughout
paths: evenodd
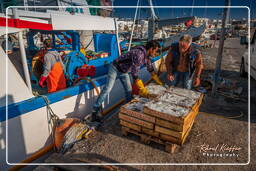
M 224 12 L 223 12 L 223 18 L 222 18 L 222 28 L 221 28 L 221 37 L 220 37 L 220 43 L 219 43 L 219 49 L 218 49 L 218 56 L 216 58 L 216 67 L 213 75 L 213 87 L 212 87 L 212 95 L 216 95 L 217 85 L 219 82 L 220 77 L 220 71 L 221 71 L 221 61 L 222 61 L 222 53 L 224 48 L 224 40 L 225 40 L 225 34 L 226 34 L 226 26 L 227 26 L 227 20 L 229 16 L 229 10 L 230 8 L 228 6 L 231 5 L 231 0 L 225 0 L 225 6 Z

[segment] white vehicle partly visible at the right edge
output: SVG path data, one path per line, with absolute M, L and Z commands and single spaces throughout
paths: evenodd
M 256 80 L 256 33 L 255 33 L 255 28 L 251 30 L 251 39 L 249 40 L 250 42 L 250 75 Z M 240 43 L 242 45 L 246 45 L 248 47 L 248 39 L 246 37 L 242 36 Z M 241 65 L 240 65 L 240 76 L 246 77 L 248 73 L 248 50 L 243 54 L 241 58 Z

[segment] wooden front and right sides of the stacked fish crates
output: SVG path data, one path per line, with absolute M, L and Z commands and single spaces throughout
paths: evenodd
M 154 111 L 144 106 L 143 111 L 127 109 L 130 103 L 121 107 L 119 112 L 122 131 L 148 136 L 149 141 L 159 141 L 160 144 L 182 145 L 193 126 L 194 120 L 199 112 L 203 95 L 191 107 L 188 114 L 183 117 L 176 117 L 170 114 Z M 123 130 L 124 129 L 124 130 Z M 123 133 L 126 135 L 125 133 Z M 142 138 L 143 139 L 143 138 Z

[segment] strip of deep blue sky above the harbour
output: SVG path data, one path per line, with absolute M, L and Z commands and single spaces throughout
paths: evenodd
M 114 6 L 135 6 L 138 0 L 115 0 Z M 152 0 L 154 6 L 224 6 L 225 0 Z M 194 5 L 193 5 L 194 3 Z M 140 0 L 140 6 L 148 6 L 148 0 Z M 256 0 L 231 0 L 231 6 L 247 6 L 251 9 L 251 18 L 256 18 Z M 223 8 L 155 8 L 155 13 L 161 19 L 197 16 L 207 17 L 211 19 L 221 19 Z M 133 18 L 135 8 L 116 8 L 114 16 Z M 139 18 L 149 16 L 149 11 L 146 9 L 138 10 Z M 247 19 L 247 8 L 230 9 L 231 19 Z

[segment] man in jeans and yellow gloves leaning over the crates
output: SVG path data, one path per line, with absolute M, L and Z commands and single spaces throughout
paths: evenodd
M 129 72 L 134 79 L 134 84 L 139 89 L 139 94 L 141 96 L 148 96 L 148 91 L 144 87 L 141 79 L 138 78 L 138 71 L 141 66 L 146 65 L 147 70 L 151 73 L 152 79 L 156 83 L 163 85 L 163 83 L 158 78 L 157 74 L 154 72 L 153 65 L 150 61 L 150 56 L 155 56 L 158 48 L 160 47 L 157 41 L 150 41 L 146 46 L 137 46 L 131 49 L 124 55 L 119 56 L 114 62 L 109 66 L 107 82 L 102 89 L 96 103 L 93 106 L 92 112 L 92 122 L 100 122 L 99 111 L 102 103 L 104 102 L 106 96 L 110 93 L 113 88 L 116 78 L 119 78 L 124 90 L 126 101 L 129 102 L 132 99 L 132 86 L 130 82 Z

